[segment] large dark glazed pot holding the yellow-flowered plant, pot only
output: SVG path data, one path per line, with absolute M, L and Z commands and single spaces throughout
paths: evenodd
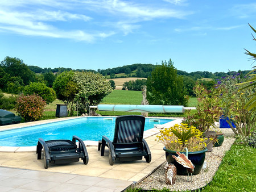
M 175 158 L 172 157 L 172 155 L 178 156 L 176 151 L 171 151 L 166 147 L 164 147 L 163 149 L 166 152 L 166 161 L 169 164 L 174 164 L 176 166 L 177 174 L 187 176 L 188 175 L 187 168 L 184 168 L 184 166 L 180 165 L 175 160 Z M 195 165 L 193 175 L 200 173 L 200 170 L 202 169 L 204 160 L 205 160 L 205 152 L 207 152 L 207 148 L 205 148 L 202 151 L 188 152 L 188 159 L 191 160 L 193 165 Z M 185 154 L 185 152 L 180 152 L 180 153 Z

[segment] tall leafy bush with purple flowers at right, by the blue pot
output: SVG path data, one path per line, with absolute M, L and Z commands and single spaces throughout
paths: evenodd
M 242 83 L 250 80 L 250 76 L 243 77 L 236 72 L 218 80 L 218 87 L 222 90 L 220 99 L 224 118 L 236 135 L 250 135 L 251 131 L 256 130 L 256 112 L 246 108 L 250 95 L 255 94 L 256 89 L 243 89 L 246 85 Z

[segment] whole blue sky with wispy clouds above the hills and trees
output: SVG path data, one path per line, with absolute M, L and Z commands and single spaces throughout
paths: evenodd
M 250 70 L 255 18 L 255 0 L 1 0 L 0 61 L 97 70 L 172 59 L 187 72 Z

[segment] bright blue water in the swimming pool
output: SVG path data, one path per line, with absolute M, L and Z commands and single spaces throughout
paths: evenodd
M 164 124 L 171 121 L 171 119 L 146 118 L 144 130 L 153 128 L 154 124 Z M 72 140 L 72 136 L 76 135 L 82 140 L 98 141 L 101 140 L 102 135 L 106 135 L 109 139 L 113 139 L 114 127 L 115 118 L 86 117 L 63 120 L 61 122 L 0 131 L 0 146 L 35 146 L 40 137 L 44 140 Z

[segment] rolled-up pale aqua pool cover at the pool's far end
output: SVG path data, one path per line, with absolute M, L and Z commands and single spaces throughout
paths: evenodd
M 99 111 L 124 112 L 184 112 L 184 106 L 171 105 L 98 105 Z

